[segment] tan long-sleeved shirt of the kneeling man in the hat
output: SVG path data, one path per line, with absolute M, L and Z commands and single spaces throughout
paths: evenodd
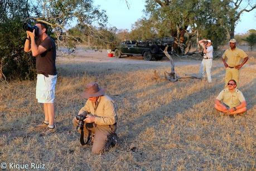
M 109 96 L 104 95 L 99 96 L 97 102 L 98 106 L 96 107 L 96 102 L 87 100 L 84 107 L 80 109 L 79 114 L 87 111 L 95 116 L 95 124 L 114 125 L 117 121 L 117 111 L 113 100 Z

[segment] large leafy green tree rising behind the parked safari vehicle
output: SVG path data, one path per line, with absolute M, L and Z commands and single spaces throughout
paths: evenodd
M 146 1 L 147 21 L 153 23 L 158 37 L 174 36 L 182 45 L 190 42 L 197 31 L 198 37 L 214 41 L 215 49 L 226 40 L 227 9 L 229 3 L 218 0 Z M 186 36 L 189 27 L 192 32 Z

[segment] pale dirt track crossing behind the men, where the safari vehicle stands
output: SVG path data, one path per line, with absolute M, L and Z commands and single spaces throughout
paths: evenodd
M 255 52 L 247 52 L 250 60 L 245 64 L 246 67 L 255 67 Z M 196 57 L 200 58 L 200 57 Z M 195 60 L 195 58 L 173 58 L 175 66 L 196 66 L 199 72 L 201 60 Z M 93 51 L 93 50 L 76 50 L 73 55 L 69 57 L 58 57 L 57 66 L 65 65 L 65 63 L 73 63 L 74 65 L 81 64 L 88 67 L 89 63 L 94 63 L 89 65 L 90 67 L 99 66 L 97 63 L 102 63 L 102 65 L 109 65 L 109 70 L 118 69 L 123 71 L 133 71 L 134 69 L 155 69 L 156 67 L 170 67 L 170 60 L 167 57 L 163 57 L 161 61 L 145 61 L 142 56 L 132 56 L 126 57 L 125 55 L 121 58 L 108 57 L 107 50 Z M 129 67 L 128 67 L 129 66 Z M 70 67 L 70 66 L 69 66 Z M 214 67 L 223 67 L 223 62 L 220 58 L 214 58 L 212 62 L 212 69 Z

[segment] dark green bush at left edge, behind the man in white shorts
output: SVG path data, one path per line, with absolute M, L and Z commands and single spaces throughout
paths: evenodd
M 3 6 L 4 4 L 4 6 Z M 28 5 L 26 1 L 1 1 L 0 25 L 0 78 L 34 79 L 35 58 L 23 50 L 26 32 L 23 19 Z

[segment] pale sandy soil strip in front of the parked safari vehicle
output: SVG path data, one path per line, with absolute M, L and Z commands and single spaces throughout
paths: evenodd
M 225 49 L 228 47 L 225 47 Z M 249 52 L 246 51 L 245 47 L 239 47 L 243 49 L 249 56 L 249 61 L 245 65 L 253 65 L 255 66 L 255 51 Z M 194 58 L 173 58 L 175 62 L 175 66 L 200 66 L 201 60 L 195 60 L 200 57 L 196 56 Z M 115 57 L 108 57 L 107 50 L 103 51 L 94 51 L 94 50 L 76 50 L 76 52 L 73 55 L 69 55 L 69 57 L 58 57 L 57 63 L 66 63 L 66 62 L 72 62 L 72 63 L 110 63 L 111 66 L 113 65 L 119 65 L 122 63 L 122 65 L 136 65 L 139 67 L 147 68 L 147 67 L 168 67 L 170 66 L 170 60 L 168 60 L 167 57 L 163 57 L 161 61 L 145 61 L 142 56 L 122 56 L 121 58 L 115 58 Z M 212 67 L 222 67 L 223 62 L 221 58 L 214 58 L 214 62 L 212 62 Z

